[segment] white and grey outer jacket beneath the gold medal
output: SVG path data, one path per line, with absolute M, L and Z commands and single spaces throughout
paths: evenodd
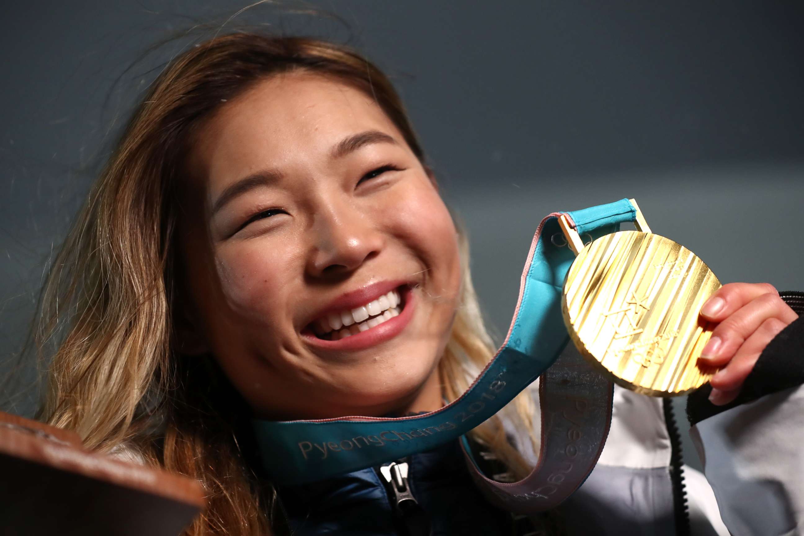
M 706 475 L 683 467 L 691 534 L 804 533 L 804 387 L 704 419 L 690 433 Z M 615 387 L 600 460 L 561 506 L 568 534 L 683 534 L 675 522 L 672 443 L 662 399 Z

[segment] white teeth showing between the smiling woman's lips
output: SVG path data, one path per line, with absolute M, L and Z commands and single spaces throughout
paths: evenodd
M 374 328 L 384 321 L 399 316 L 402 298 L 397 290 L 355 309 L 343 309 L 318 318 L 311 324 L 316 337 L 325 341 L 338 341 Z

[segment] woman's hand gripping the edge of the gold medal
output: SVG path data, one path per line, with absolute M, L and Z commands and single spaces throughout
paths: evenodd
M 724 284 L 701 316 L 718 323 L 701 354 L 708 365 L 723 367 L 710 382 L 709 399 L 718 406 L 736 398 L 765 346 L 798 318 L 768 283 Z

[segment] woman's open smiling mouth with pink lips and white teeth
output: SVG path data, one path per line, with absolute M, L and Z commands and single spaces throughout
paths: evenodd
M 301 336 L 314 346 L 359 350 L 396 337 L 410 321 L 412 288 L 404 284 L 364 305 L 336 310 L 317 318 Z

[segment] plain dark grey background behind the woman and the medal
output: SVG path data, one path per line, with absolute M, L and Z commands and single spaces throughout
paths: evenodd
M 655 232 L 698 253 L 720 280 L 804 288 L 801 2 L 314 5 L 351 30 L 260 7 L 221 31 L 249 22 L 348 38 L 392 75 L 469 228 L 475 283 L 498 335 L 539 220 L 623 197 L 637 198 Z M 243 6 L 6 2 L 0 373 L 130 105 L 187 41 L 142 58 L 146 48 Z M 6 409 L 31 414 L 35 389 L 19 386 L 32 375 L 14 373 Z

